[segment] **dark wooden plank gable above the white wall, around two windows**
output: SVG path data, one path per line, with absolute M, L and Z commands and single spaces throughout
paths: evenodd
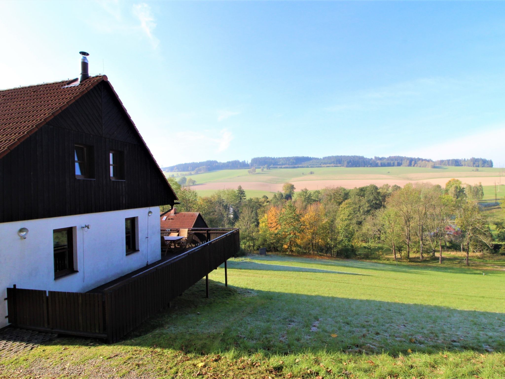
M 74 145 L 94 178 L 75 177 Z M 109 152 L 124 153 L 111 180 Z M 0 222 L 173 205 L 176 197 L 108 82 L 98 83 L 0 159 Z

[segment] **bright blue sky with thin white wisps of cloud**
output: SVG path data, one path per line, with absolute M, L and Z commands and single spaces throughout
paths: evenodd
M 0 88 L 105 73 L 163 166 L 505 164 L 505 3 L 0 2 Z

